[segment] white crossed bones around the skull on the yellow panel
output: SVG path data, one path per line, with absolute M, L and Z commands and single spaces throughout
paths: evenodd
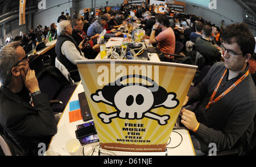
M 175 106 L 178 105 L 178 102 L 175 101 L 175 100 L 172 100 L 173 98 L 174 98 L 174 95 L 173 94 L 169 94 L 167 99 L 166 99 L 166 101 L 164 101 L 160 105 L 154 106 L 154 108 L 160 108 L 161 106 L 163 106 L 164 108 L 174 108 Z M 104 102 L 105 104 L 113 106 L 112 102 L 106 100 L 102 96 L 102 91 L 99 91 L 98 95 L 93 95 L 92 99 L 95 102 Z M 122 113 L 122 112 L 120 113 L 118 111 L 117 112 L 113 112 L 113 113 L 109 113 L 109 114 L 101 112 L 101 113 L 98 113 L 98 117 L 101 118 L 101 121 L 104 122 L 104 123 L 111 123 L 113 118 L 117 118 L 117 117 L 119 117 L 119 118 L 126 118 L 126 114 L 127 113 L 124 114 L 124 113 Z M 138 119 L 142 119 L 143 115 L 144 115 L 144 117 L 155 119 L 156 121 L 158 121 L 159 125 L 166 125 L 168 123 L 167 122 L 168 119 L 170 119 L 170 115 L 159 115 L 159 114 L 156 114 L 156 113 L 152 113 L 150 111 L 145 111 L 142 114 L 141 113 L 136 113 L 136 114 L 137 114 L 137 118 Z M 128 115 L 128 119 L 134 119 L 135 117 L 136 117 L 135 113 Z

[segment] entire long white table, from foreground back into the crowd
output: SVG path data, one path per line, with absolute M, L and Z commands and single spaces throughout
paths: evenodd
M 113 42 L 115 45 L 116 38 L 110 38 L 110 40 L 107 42 L 107 45 L 114 45 L 111 44 Z M 121 41 L 119 41 L 121 42 Z M 101 59 L 100 54 L 97 55 L 96 59 Z M 149 61 L 159 62 L 160 59 L 158 57 L 158 54 L 156 53 L 148 53 L 148 59 Z M 65 106 L 64 112 L 61 115 L 61 118 L 59 122 L 57 123 L 57 134 L 52 137 L 51 143 L 48 147 L 48 152 L 54 152 L 56 155 L 62 155 L 62 156 L 70 156 L 72 153 L 69 153 L 67 150 L 65 150 L 65 145 L 67 142 L 71 139 L 76 139 L 76 133 L 77 126 L 91 122 L 93 120 L 89 121 L 83 121 L 81 118 L 81 115 L 72 115 L 73 111 L 71 111 L 71 108 L 74 104 L 74 102 L 79 101 L 79 93 L 84 92 L 84 88 L 82 86 L 82 83 L 80 82 L 77 85 L 77 88 L 73 92 L 73 95 L 71 96 L 71 99 L 69 100 L 67 106 Z M 72 117 L 72 118 L 71 118 Z M 74 118 L 76 117 L 76 118 Z M 75 121 L 71 121 L 71 119 L 75 119 Z M 99 142 L 86 144 L 82 146 L 82 153 L 80 155 L 147 155 L 147 156 L 193 156 L 195 155 L 195 150 L 193 148 L 191 136 L 189 135 L 189 131 L 185 127 L 179 127 L 177 129 L 174 128 L 174 130 L 171 132 L 170 139 L 167 143 L 166 151 L 165 152 L 122 152 L 122 151 L 110 151 L 101 148 L 101 145 Z

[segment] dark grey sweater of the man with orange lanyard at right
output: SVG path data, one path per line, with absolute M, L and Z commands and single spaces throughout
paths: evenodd
M 233 85 L 248 68 L 249 65 L 245 71 L 230 80 L 227 71 L 214 99 Z M 210 105 L 208 110 L 204 110 L 225 69 L 223 62 L 216 63 L 203 81 L 188 92 L 189 102 L 200 101 L 194 110 L 197 121 L 200 122 L 195 135 L 200 141 L 201 151 L 206 153 L 210 149 L 209 143 L 216 143 L 219 150 L 238 145 L 241 146 L 242 153 L 251 149 L 250 140 L 255 128 L 253 119 L 256 112 L 256 88 L 250 74 L 222 99 Z

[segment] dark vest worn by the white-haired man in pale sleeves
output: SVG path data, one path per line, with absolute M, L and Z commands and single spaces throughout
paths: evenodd
M 76 71 L 78 69 L 77 66 L 73 65 L 73 63 L 70 62 L 67 59 L 67 57 L 65 57 L 65 55 L 63 55 L 61 53 L 61 46 L 63 45 L 63 43 L 65 41 L 71 41 L 76 46 L 76 49 L 79 50 L 80 54 L 82 55 L 81 50 L 79 48 L 79 45 L 76 44 L 76 41 L 71 36 L 60 35 L 57 38 L 57 42 L 56 42 L 56 46 L 55 46 L 55 52 L 56 52 L 56 55 L 57 55 L 56 57 L 67 68 L 68 72 Z M 78 71 L 75 72 L 75 73 L 71 73 L 71 78 L 75 82 L 79 82 L 81 80 Z

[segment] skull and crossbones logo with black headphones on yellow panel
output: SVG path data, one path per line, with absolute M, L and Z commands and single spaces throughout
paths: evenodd
M 125 78 L 129 78 L 127 75 Z M 148 78 L 141 75 L 133 75 L 137 78 Z M 121 82 L 122 79 L 117 81 Z M 154 80 L 151 80 L 154 84 Z M 179 105 L 176 99 L 176 93 L 167 92 L 166 89 L 158 85 L 157 91 L 153 91 L 155 85 L 142 85 L 141 83 L 133 83 L 132 85 L 110 83 L 102 89 L 98 89 L 96 93 L 91 95 L 94 102 L 104 102 L 113 106 L 117 111 L 113 113 L 98 113 L 98 117 L 102 122 L 108 124 L 113 118 L 121 119 L 142 119 L 144 117 L 158 121 L 159 125 L 166 125 L 170 115 L 159 115 L 151 112 L 155 108 L 174 109 Z

